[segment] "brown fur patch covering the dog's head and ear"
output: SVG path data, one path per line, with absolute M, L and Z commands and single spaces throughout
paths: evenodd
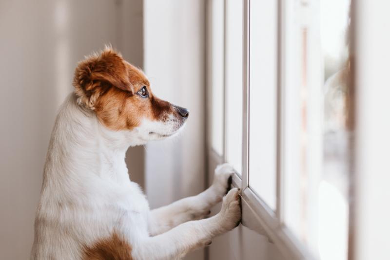
M 178 116 L 169 102 L 153 95 L 145 74 L 111 48 L 79 62 L 73 85 L 81 103 L 112 130 L 131 130 L 142 118 L 164 121 L 169 113 Z M 137 95 L 144 86 L 149 98 Z

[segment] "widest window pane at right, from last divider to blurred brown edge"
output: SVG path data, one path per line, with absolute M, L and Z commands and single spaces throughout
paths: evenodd
M 346 260 L 350 1 L 286 3 L 284 222 L 321 260 Z

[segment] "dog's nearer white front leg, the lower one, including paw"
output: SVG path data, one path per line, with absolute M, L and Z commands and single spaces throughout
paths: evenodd
M 134 259 L 180 259 L 194 249 L 208 245 L 220 234 L 233 229 L 241 219 L 239 190 L 234 188 L 223 197 L 215 216 L 180 224 L 166 233 L 149 237 L 134 247 Z

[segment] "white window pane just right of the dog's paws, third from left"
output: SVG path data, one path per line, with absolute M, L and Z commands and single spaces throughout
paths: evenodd
M 277 1 L 251 1 L 249 186 L 276 207 Z

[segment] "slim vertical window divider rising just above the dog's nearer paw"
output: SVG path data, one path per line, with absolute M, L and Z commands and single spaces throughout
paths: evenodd
M 242 190 L 249 186 L 250 0 L 244 0 L 243 4 Z

